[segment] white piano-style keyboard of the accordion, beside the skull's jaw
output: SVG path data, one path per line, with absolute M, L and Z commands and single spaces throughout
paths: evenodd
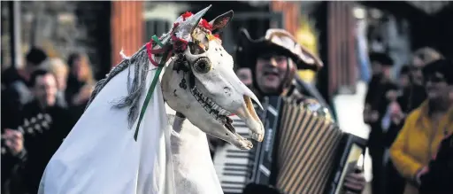
M 249 128 L 238 117 L 230 117 L 236 132 L 250 139 Z M 251 151 L 240 150 L 232 144 L 219 147 L 214 155 L 214 167 L 224 193 L 242 193 L 249 179 Z

